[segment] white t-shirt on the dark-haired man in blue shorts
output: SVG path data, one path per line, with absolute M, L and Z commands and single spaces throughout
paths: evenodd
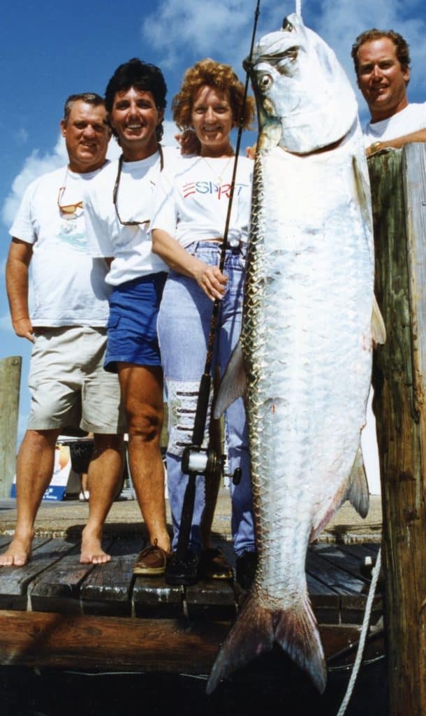
M 179 150 L 163 147 L 164 168 L 174 165 Z M 149 221 L 152 200 L 160 173 L 160 155 L 123 162 L 117 193 L 117 208 L 122 221 L 144 221 L 139 226 L 123 226 L 119 222 L 112 195 L 119 162 L 112 162 L 96 181 L 91 183 L 84 198 L 87 226 L 87 250 L 91 256 L 114 257 L 107 283 L 117 286 L 140 276 L 168 271 L 159 256 L 152 253 Z

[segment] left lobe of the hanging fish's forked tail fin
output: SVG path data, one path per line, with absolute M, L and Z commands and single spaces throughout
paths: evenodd
M 213 664 L 207 682 L 207 694 L 211 694 L 228 674 L 244 667 L 262 652 L 272 649 L 273 644 L 271 612 L 250 595 Z

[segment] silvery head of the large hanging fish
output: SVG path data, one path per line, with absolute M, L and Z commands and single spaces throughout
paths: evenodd
M 308 154 L 342 140 L 357 100 L 335 53 L 293 13 L 244 60 L 257 102 L 260 150 Z

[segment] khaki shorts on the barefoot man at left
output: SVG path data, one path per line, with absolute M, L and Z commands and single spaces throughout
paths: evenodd
M 109 435 L 125 432 L 118 377 L 102 367 L 105 347 L 104 328 L 34 329 L 29 430 L 81 427 Z

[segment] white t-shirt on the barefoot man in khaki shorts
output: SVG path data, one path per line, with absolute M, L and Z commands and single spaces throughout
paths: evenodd
M 66 167 L 44 174 L 24 193 L 9 233 L 33 245 L 31 323 L 33 326 L 105 326 L 108 320 L 108 266 L 86 252 L 82 208 L 62 206 L 83 200 L 84 188 L 101 170 L 76 174 Z M 68 217 L 68 218 L 67 218 Z

